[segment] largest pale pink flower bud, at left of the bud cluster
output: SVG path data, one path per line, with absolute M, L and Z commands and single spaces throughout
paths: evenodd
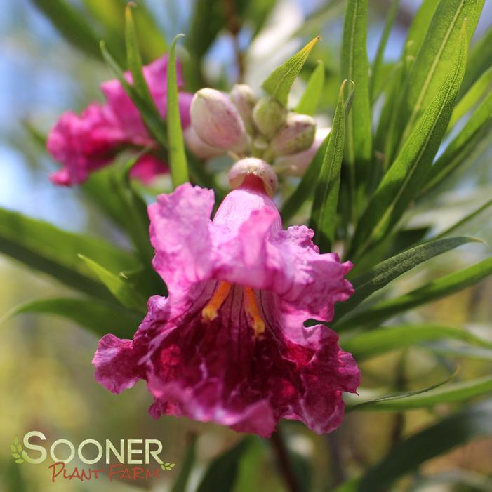
M 215 89 L 200 89 L 192 100 L 190 115 L 194 131 L 212 147 L 246 152 L 246 129 L 236 107 L 227 95 Z

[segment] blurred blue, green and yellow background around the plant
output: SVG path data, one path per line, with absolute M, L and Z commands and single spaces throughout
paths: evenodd
M 98 40 L 122 65 L 124 9 L 122 0 L 5 0 L 0 12 L 0 205 L 34 218 L 49 220 L 66 230 L 114 237 L 119 232 L 96 213 L 86 195 L 77 190 L 53 187 L 47 175 L 56 165 L 33 138 L 29 128 L 44 133 L 61 112 L 79 111 L 100 100 L 100 81 L 112 78 L 100 56 Z M 293 98 L 317 58 L 326 64 L 326 90 L 319 114 L 333 114 L 340 83 L 340 44 L 345 1 L 306 0 L 147 0 L 137 1 L 135 21 L 144 62 L 166 51 L 168 41 L 184 32 L 179 53 L 185 66 L 186 89 L 208 85 L 230 88 L 238 79 L 258 88 L 274 67 L 303 42 L 321 34 L 293 88 Z M 390 36 L 383 67 L 386 77 L 399 57 L 419 1 L 403 0 Z M 477 29 L 482 36 L 492 18 L 487 0 Z M 54 10 L 62 6 L 62 11 Z M 373 60 L 383 30 L 389 1 L 372 0 L 369 11 L 368 55 Z M 48 20 L 51 18 L 51 20 Z M 490 29 L 488 30 L 490 33 Z M 490 34 L 489 34 L 490 37 Z M 490 65 L 490 63 L 489 63 Z M 328 123 L 326 116 L 324 122 Z M 490 142 L 490 139 L 488 140 Z M 457 173 L 437 203 L 423 202 L 411 220 L 418 230 L 446 230 L 491 197 L 492 149 L 482 149 L 470 166 Z M 482 214 L 467 224 L 465 232 L 492 241 L 490 215 Z M 412 275 L 392 284 L 399 295 L 435 277 L 456 271 L 486 258 L 477 244 L 461 247 L 427 262 Z M 43 275 L 33 275 L 6 258 L 0 258 L 0 314 L 25 300 L 65 295 L 67 288 Z M 467 328 L 492 341 L 491 279 L 405 314 L 406 323 L 436 323 Z M 127 484 L 105 480 L 81 484 L 51 484 L 44 466 L 15 465 L 8 445 L 13 437 L 32 429 L 49 439 L 60 437 L 79 442 L 95 439 L 154 437 L 163 441 L 168 460 L 177 463 L 159 482 L 145 484 L 154 491 L 171 489 L 172 477 L 185 460 L 187 442 L 197 441 L 197 463 L 189 489 L 199 482 L 205 464 L 233 446 L 238 435 L 216 425 L 147 414 L 150 397 L 143 384 L 118 397 L 93 380 L 91 359 L 95 336 L 67 321 L 39 316 L 8 319 L 0 326 L 0 490 L 18 491 L 126 491 Z M 107 326 L 107 331 L 114 331 Z M 433 342 L 376 357 L 362 364 L 363 386 L 385 392 L 415 390 L 446 378 L 449 364 L 460 364 L 457 379 L 486 375 L 492 368 L 492 350 Z M 450 362 L 451 361 L 451 362 Z M 295 453 L 295 467 L 305 491 L 327 491 L 343 479 L 366 470 L 398 449 L 401 441 L 448 415 L 451 405 L 406 413 L 350 413 L 338 431 L 317 437 L 303 427 L 285 423 L 288 445 Z M 466 411 L 466 408 L 465 408 Z M 472 418 L 475 418 L 472 416 Z M 477 420 L 479 421 L 479 420 Z M 453 432 L 451 430 L 446 432 Z M 490 430 L 488 434 L 491 434 Z M 470 437 L 474 437 L 471 436 Z M 463 442 L 467 439 L 463 439 Z M 420 451 L 418 451 L 420 452 Z M 239 460 L 236 492 L 284 491 L 274 473 L 277 466 L 269 446 L 251 439 Z M 480 437 L 420 467 L 398 481 L 395 491 L 491 491 L 492 440 Z M 173 475 L 174 474 L 174 475 Z M 140 484 L 140 486 L 142 486 Z M 382 486 L 383 487 L 383 486 Z M 383 487 L 384 488 L 384 487 Z M 383 490 L 381 488 L 381 490 Z M 230 490 L 230 488 L 224 488 Z M 363 489 L 364 490 L 364 489 Z

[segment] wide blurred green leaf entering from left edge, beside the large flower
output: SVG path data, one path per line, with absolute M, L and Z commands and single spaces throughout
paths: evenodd
M 108 300 L 112 297 L 97 277 L 81 264 L 77 254 L 90 255 L 117 271 L 138 265 L 131 253 L 102 239 L 67 232 L 48 222 L 3 208 L 0 208 L 0 252 L 69 287 Z

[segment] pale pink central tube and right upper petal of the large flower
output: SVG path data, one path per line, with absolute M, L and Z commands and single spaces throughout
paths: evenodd
M 261 190 L 230 192 L 213 219 L 213 277 L 274 291 L 297 326 L 310 317 L 333 319 L 335 302 L 353 293 L 352 263 L 319 254 L 305 226 L 281 230 L 279 212 Z

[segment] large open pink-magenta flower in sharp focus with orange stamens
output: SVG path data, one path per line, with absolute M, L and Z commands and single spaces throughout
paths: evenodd
M 288 418 L 331 432 L 359 369 L 333 331 L 303 322 L 332 319 L 335 302 L 352 294 L 352 264 L 319 254 L 305 226 L 282 230 L 256 174 L 243 176 L 213 221 L 213 192 L 188 184 L 149 206 L 153 265 L 170 294 L 149 299 L 133 340 L 100 340 L 95 377 L 114 393 L 146 380 L 155 418 L 264 437 Z

